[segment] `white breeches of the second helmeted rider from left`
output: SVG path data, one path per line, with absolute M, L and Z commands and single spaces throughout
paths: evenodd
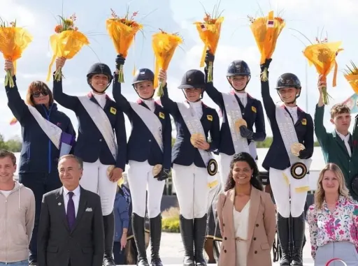
M 158 181 L 153 177 L 153 166 L 148 161 L 129 161 L 128 182 L 131 190 L 133 212 L 145 217 L 146 191 L 148 191 L 148 216 L 155 218 L 160 214 L 160 205 L 165 181 Z

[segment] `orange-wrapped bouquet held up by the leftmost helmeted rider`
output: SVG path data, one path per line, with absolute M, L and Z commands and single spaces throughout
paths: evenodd
M 57 57 L 72 59 L 84 45 L 89 45 L 85 34 L 78 31 L 78 27 L 74 26 L 76 15 L 73 14 L 69 19 L 59 16 L 59 24 L 55 27 L 56 34 L 50 37 L 50 44 L 53 52 L 50 66 L 48 67 L 47 81 L 50 80 L 52 65 Z M 59 68 L 55 72 L 55 80 L 62 78 L 62 69 Z

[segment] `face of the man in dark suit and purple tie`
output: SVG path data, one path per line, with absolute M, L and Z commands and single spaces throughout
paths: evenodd
M 83 169 L 75 158 L 62 158 L 58 165 L 59 179 L 69 191 L 73 191 L 80 184 Z

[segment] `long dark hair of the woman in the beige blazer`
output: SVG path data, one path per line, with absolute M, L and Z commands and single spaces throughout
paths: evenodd
M 247 152 L 241 152 L 239 154 L 234 155 L 234 157 L 230 163 L 229 178 L 227 179 L 227 184 L 225 184 L 224 191 L 229 191 L 230 189 L 234 189 L 235 180 L 232 175 L 232 170 L 234 168 L 235 163 L 239 162 L 239 161 L 248 163 L 248 165 L 250 165 L 251 170 L 253 170 L 252 177 L 250 179 L 251 186 L 253 186 L 255 189 L 259 189 L 260 191 L 264 191 L 264 186 L 262 186 L 262 182 L 260 182 L 258 179 L 259 178 L 259 168 L 257 168 L 257 164 L 256 164 L 254 158 L 252 158 L 252 156 L 250 154 L 248 154 Z

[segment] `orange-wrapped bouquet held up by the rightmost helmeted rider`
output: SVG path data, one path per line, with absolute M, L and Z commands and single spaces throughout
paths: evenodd
M 285 27 L 285 20 L 281 17 L 274 17 L 273 11 L 267 17 L 253 18 L 249 16 L 250 28 L 255 37 L 257 47 L 261 54 L 260 64 L 264 64 L 266 59 L 271 59 L 275 51 L 276 42 L 282 29 Z M 268 80 L 268 69 L 265 68 L 261 75 L 262 81 Z

